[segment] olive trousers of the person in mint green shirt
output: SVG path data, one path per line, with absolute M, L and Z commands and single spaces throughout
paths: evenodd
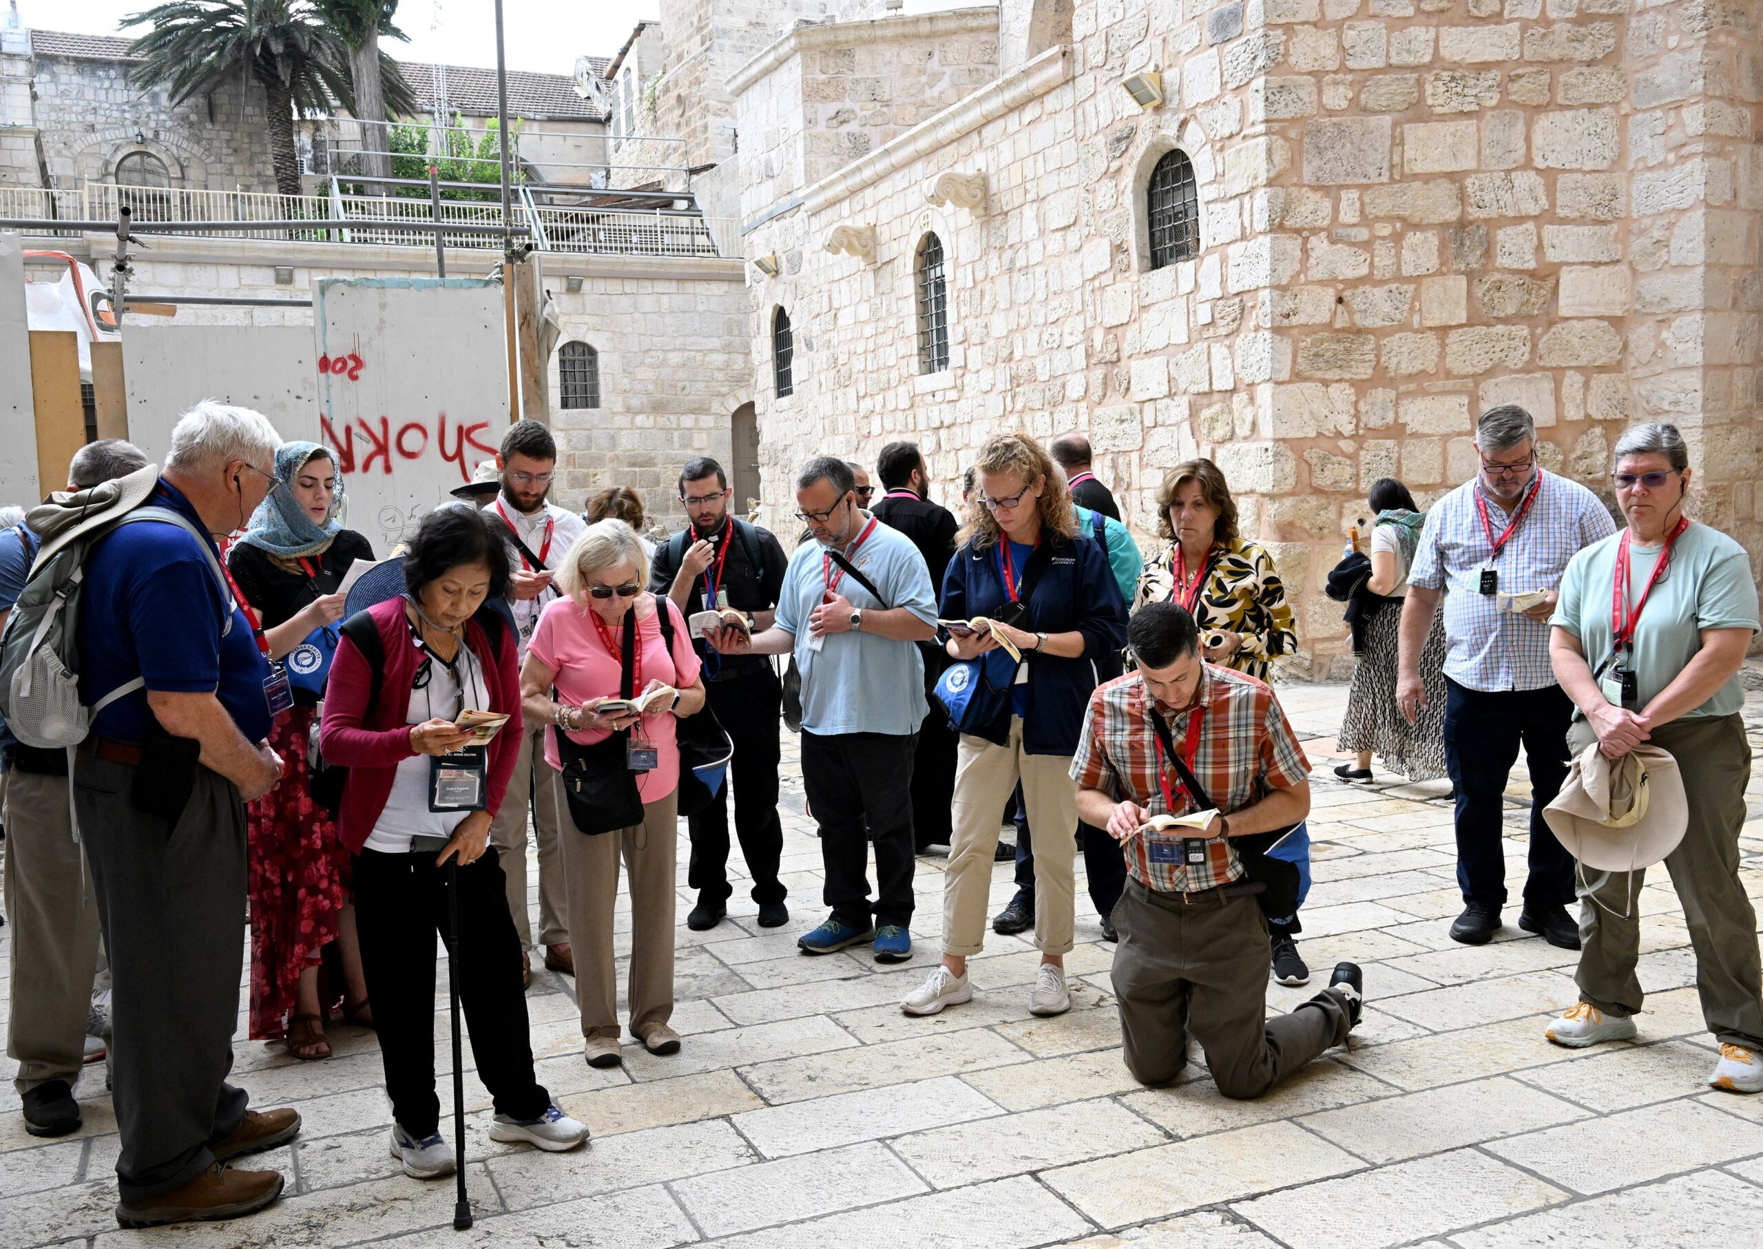
M 1585 747 L 1574 724 L 1569 747 Z M 1763 997 L 1758 981 L 1758 921 L 1738 881 L 1738 831 L 1745 823 L 1751 743 L 1738 715 L 1698 715 L 1652 729 L 1648 745 L 1671 752 L 1684 773 L 1689 826 L 1664 870 L 1684 904 L 1689 944 L 1696 951 L 1701 1018 L 1724 1043 L 1763 1052 Z M 1606 1015 L 1641 1008 L 1634 974 L 1641 955 L 1640 893 L 1647 872 L 1580 870 L 1580 999 Z M 1631 900 L 1633 898 L 1633 900 Z M 1627 918 L 1622 918 L 1627 914 Z

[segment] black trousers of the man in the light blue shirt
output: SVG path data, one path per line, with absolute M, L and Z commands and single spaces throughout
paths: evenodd
M 802 731 L 802 789 L 820 824 L 825 904 L 839 923 L 867 930 L 911 923 L 911 756 L 917 735 Z M 866 837 L 867 830 L 867 837 Z M 869 904 L 869 840 L 876 902 Z

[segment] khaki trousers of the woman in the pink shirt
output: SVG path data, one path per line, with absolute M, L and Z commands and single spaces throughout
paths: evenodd
M 555 773 L 554 773 L 555 777 Z M 631 1036 L 673 1015 L 673 858 L 679 844 L 679 791 L 643 803 L 643 823 L 587 837 L 569 819 L 562 779 L 554 782 L 564 816 L 562 876 L 575 951 L 575 999 L 582 1036 L 619 1034 L 619 974 L 612 958 L 612 911 L 619 900 L 619 860 L 631 886 Z

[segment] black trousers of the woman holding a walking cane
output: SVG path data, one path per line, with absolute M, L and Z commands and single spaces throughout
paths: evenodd
M 550 1094 L 532 1076 L 520 937 L 508 914 L 508 884 L 495 851 L 458 868 L 460 950 L 451 948 L 446 877 L 446 868 L 435 867 L 435 856 L 427 851 L 361 851 L 354 856 L 354 921 L 386 1096 L 393 1117 L 416 1140 L 432 1136 L 441 1126 L 435 934 L 455 958 L 471 1052 L 478 1076 L 495 1097 L 495 1113 L 538 1119 L 550 1105 Z

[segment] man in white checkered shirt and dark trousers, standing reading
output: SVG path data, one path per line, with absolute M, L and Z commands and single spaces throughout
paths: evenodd
M 1414 551 L 1402 606 L 1396 703 L 1412 724 L 1426 701 L 1421 648 L 1442 601 L 1444 758 L 1456 786 L 1456 879 L 1463 890 L 1463 914 L 1451 935 L 1479 946 L 1500 928 L 1502 794 L 1523 745 L 1530 768 L 1530 879 L 1518 927 L 1578 950 L 1580 925 L 1567 914 L 1573 856 L 1543 823 L 1543 809 L 1567 775 L 1573 719 L 1573 701 L 1550 668 L 1548 618 L 1567 560 L 1617 527 L 1597 495 L 1537 465 L 1536 423 L 1525 409 L 1506 403 L 1483 412 L 1476 449 L 1481 470 L 1433 504 Z

